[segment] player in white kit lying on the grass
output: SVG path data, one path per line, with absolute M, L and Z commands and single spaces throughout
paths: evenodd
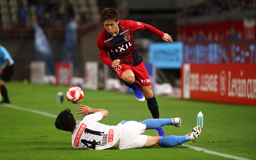
M 70 113 L 69 108 L 62 111 L 55 121 L 57 129 L 72 133 L 72 146 L 76 149 L 174 147 L 189 140 L 195 140 L 201 134 L 201 128 L 197 125 L 185 136 L 147 136 L 141 133 L 144 133 L 146 129 L 156 129 L 164 125 L 180 127 L 181 119 L 148 119 L 142 122 L 122 121 L 117 125 L 109 126 L 98 122 L 108 116 L 107 110 L 90 108 L 82 104 L 81 106 L 77 107 L 79 109 L 76 110 L 79 111 L 76 114 L 84 116 L 79 124 Z

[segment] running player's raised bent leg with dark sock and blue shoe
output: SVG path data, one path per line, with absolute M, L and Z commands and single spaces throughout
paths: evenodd
M 140 102 L 145 101 L 145 97 L 141 93 L 140 88 L 137 86 L 134 73 L 131 70 L 124 71 L 121 78 L 125 81 L 124 84 L 132 89 L 137 100 L 139 100 Z

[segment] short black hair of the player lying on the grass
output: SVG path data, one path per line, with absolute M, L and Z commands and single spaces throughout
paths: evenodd
M 57 129 L 62 131 L 73 131 L 76 126 L 76 121 L 72 113 L 70 113 L 69 108 L 60 112 L 55 120 L 55 126 Z

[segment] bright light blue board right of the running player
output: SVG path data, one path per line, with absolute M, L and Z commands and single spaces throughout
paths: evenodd
M 161 69 L 180 69 L 182 64 L 182 42 L 151 43 L 148 47 L 149 62 Z

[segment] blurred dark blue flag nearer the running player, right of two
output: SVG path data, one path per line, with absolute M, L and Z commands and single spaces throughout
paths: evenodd
M 78 25 L 75 20 L 72 20 L 65 29 L 64 41 L 61 52 L 61 61 L 73 62 L 73 74 L 76 74 L 76 70 L 78 68 L 78 62 L 76 59 L 77 40 Z

